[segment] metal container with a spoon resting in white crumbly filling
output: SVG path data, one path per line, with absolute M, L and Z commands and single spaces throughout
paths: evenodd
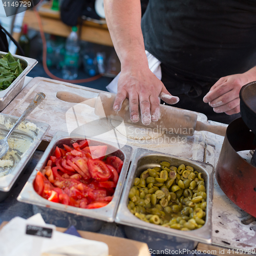
M 0 113 L 0 117 L 1 119 L 4 118 L 4 123 L 8 122 L 9 124 L 14 124 L 18 119 L 18 117 L 2 113 Z M 3 201 L 9 195 L 14 183 L 18 180 L 18 177 L 22 173 L 23 169 L 25 169 L 26 164 L 32 159 L 37 146 L 40 144 L 42 138 L 44 138 L 45 134 L 50 128 L 49 124 L 46 123 L 31 121 L 28 119 L 26 119 L 24 122 L 34 123 L 37 126 L 37 129 L 36 131 L 31 131 L 29 133 L 16 129 L 12 133 L 10 138 L 23 138 L 24 140 L 30 140 L 31 144 L 23 154 L 22 158 L 18 162 L 15 162 L 13 167 L 10 168 L 9 173 L 0 178 L 0 201 Z M 4 124 L 0 123 L 0 135 L 6 136 L 8 132 L 9 129 L 7 129 Z

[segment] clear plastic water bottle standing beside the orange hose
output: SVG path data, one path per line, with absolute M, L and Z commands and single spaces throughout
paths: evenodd
M 78 74 L 78 60 L 80 46 L 77 36 L 77 27 L 72 27 L 72 32 L 66 41 L 66 53 L 62 75 L 64 79 L 75 79 Z

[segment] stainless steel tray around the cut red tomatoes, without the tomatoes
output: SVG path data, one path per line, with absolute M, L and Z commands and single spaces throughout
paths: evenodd
M 112 201 L 104 207 L 101 207 L 98 209 L 82 209 L 74 206 L 50 202 L 47 199 L 39 196 L 33 188 L 33 181 L 35 179 L 37 171 L 42 170 L 46 166 L 47 161 L 49 160 L 50 155 L 54 152 L 56 146 L 60 146 L 63 143 L 67 145 L 72 145 L 72 143 L 74 143 L 75 141 L 83 140 L 83 139 L 84 137 L 81 137 L 81 136 L 69 137 L 69 134 L 66 132 L 57 132 L 53 137 L 52 141 L 50 142 L 49 146 L 47 147 L 44 155 L 42 155 L 41 159 L 37 163 L 33 173 L 31 174 L 29 180 L 25 184 L 23 190 L 20 192 L 17 200 L 20 202 L 35 204 L 38 206 L 43 206 L 43 207 L 56 209 L 60 211 L 67 211 L 74 215 L 86 216 L 86 217 L 98 219 L 101 221 L 114 222 L 118 203 L 121 197 L 121 193 L 122 193 L 122 189 L 125 181 L 125 177 L 130 164 L 130 157 L 132 153 L 132 147 L 130 146 L 125 145 L 121 149 L 119 149 L 118 147 L 115 147 L 109 143 L 102 142 L 96 139 L 91 139 L 89 137 L 87 138 L 91 141 L 90 146 L 107 145 L 108 150 L 106 154 L 112 153 L 112 155 L 115 155 L 119 157 L 121 160 L 123 160 L 123 167 L 119 175 L 119 180 L 115 189 L 114 197 Z

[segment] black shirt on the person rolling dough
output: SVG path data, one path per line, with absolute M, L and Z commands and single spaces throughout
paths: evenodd
M 166 67 L 200 80 L 256 66 L 256 1 L 150 0 L 145 49 Z

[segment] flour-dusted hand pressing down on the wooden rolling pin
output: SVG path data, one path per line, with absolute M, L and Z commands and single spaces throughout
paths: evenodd
M 134 66 L 123 69 L 118 79 L 118 90 L 114 102 L 114 110 L 119 111 L 125 98 L 129 98 L 130 118 L 139 121 L 140 106 L 141 121 L 144 125 L 157 122 L 160 116 L 159 99 L 168 104 L 175 104 L 178 97 L 172 96 L 163 83 L 147 67 Z

